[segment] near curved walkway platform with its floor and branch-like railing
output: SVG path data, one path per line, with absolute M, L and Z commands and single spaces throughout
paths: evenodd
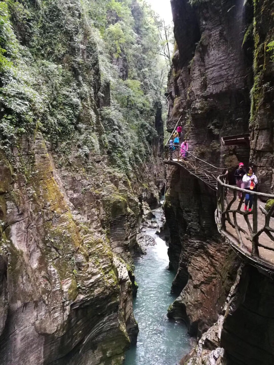
M 253 195 L 252 211 L 244 211 L 246 190 L 225 183 L 227 173 L 217 178 L 216 223 L 233 249 L 250 264 L 260 269 L 274 270 L 274 204 L 266 210 L 261 200 L 274 195 L 249 191 Z M 242 193 L 238 201 L 238 192 Z M 259 207 L 258 207 L 259 203 Z M 273 201 L 274 203 L 274 201 Z

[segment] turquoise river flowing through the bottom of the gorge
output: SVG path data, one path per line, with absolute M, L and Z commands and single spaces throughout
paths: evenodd
M 159 224 L 161 209 L 155 210 Z M 167 308 L 176 299 L 170 294 L 174 273 L 168 265 L 167 246 L 155 233 L 146 228 L 146 234 L 156 240 L 146 248 L 147 254 L 135 261 L 135 276 L 139 285 L 133 310 L 138 322 L 137 345 L 126 353 L 124 365 L 175 365 L 190 350 L 186 326 L 167 318 Z

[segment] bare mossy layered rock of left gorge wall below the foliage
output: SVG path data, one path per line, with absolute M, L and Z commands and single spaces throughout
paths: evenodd
M 106 156 L 76 154 L 58 168 L 39 132 L 13 153 L 0 165 L 1 364 L 122 364 L 138 333 L 131 255 L 141 203 L 159 202 L 161 167 L 144 165 L 130 181 Z

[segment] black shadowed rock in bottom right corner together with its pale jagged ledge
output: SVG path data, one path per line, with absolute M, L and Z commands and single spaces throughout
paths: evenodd
M 273 364 L 273 280 L 241 265 L 217 322 L 182 365 Z

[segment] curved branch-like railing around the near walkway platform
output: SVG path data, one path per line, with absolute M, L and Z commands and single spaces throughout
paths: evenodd
M 258 199 L 274 199 L 274 195 L 248 191 L 253 196 L 252 211 L 242 211 L 241 207 L 244 202 L 247 191 L 226 183 L 228 172 L 217 178 L 217 211 L 216 222 L 220 231 L 232 235 L 237 240 L 240 247 L 248 248 L 248 242 L 251 243 L 251 255 L 262 258 L 263 261 L 272 262 L 274 256 L 270 257 L 267 251 L 274 251 L 274 228 L 270 227 L 271 216 L 274 213 L 274 204 L 269 210 L 263 205 L 259 206 Z M 241 200 L 237 201 L 237 193 L 241 193 Z M 263 204 L 263 203 L 262 203 Z M 252 216 L 252 219 L 249 219 Z M 228 227 L 226 226 L 228 223 Z M 235 234 L 233 235 L 233 231 Z M 259 253 L 259 247 L 262 250 Z M 274 262 L 272 262 L 272 265 Z

